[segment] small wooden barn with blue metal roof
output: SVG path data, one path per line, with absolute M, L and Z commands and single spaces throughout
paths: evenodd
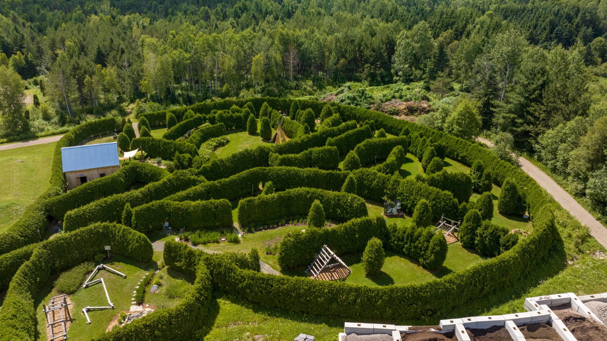
M 61 161 L 69 189 L 120 169 L 115 142 L 61 148 Z

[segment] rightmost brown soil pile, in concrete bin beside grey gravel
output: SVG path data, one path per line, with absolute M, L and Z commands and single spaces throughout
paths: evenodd
M 565 323 L 578 341 L 607 340 L 607 326 L 586 318 L 580 312 L 572 309 L 571 304 L 566 303 L 550 308 Z

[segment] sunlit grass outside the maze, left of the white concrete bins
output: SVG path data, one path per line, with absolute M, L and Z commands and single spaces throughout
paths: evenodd
M 238 299 L 219 298 L 215 324 L 205 341 L 251 341 L 263 335 L 263 341 L 292 341 L 300 333 L 315 340 L 336 340 L 344 331 L 344 320 L 263 308 Z

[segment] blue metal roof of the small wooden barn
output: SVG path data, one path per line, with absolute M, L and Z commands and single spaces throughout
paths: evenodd
M 118 146 L 115 142 L 61 148 L 63 172 L 117 166 Z

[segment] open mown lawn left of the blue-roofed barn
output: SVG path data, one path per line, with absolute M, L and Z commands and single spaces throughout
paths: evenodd
M 49 187 L 56 142 L 0 150 L 0 233 Z

